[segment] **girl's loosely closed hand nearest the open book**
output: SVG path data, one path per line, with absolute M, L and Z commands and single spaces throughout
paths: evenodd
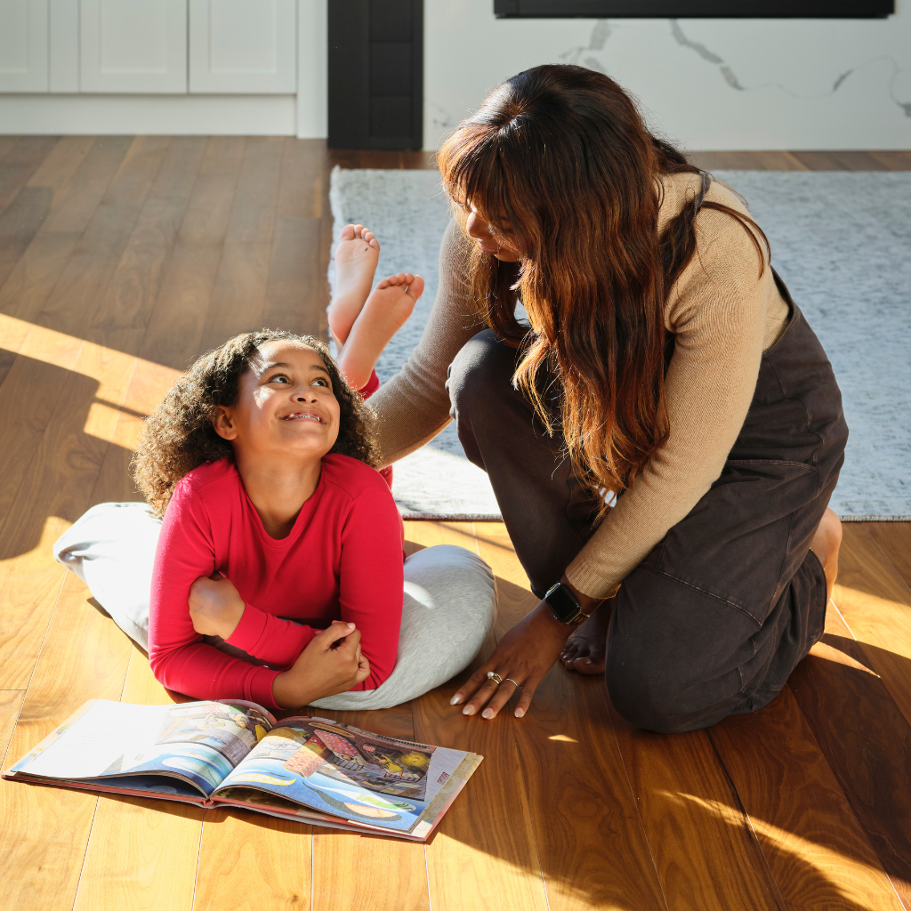
M 272 698 L 282 709 L 347 692 L 370 676 L 370 661 L 361 653 L 361 630 L 333 620 L 317 633 L 289 670 L 272 681 Z

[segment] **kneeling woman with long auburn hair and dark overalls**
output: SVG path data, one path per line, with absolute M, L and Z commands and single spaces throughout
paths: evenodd
M 509 79 L 439 165 L 461 217 L 381 462 L 455 418 L 542 599 L 453 703 L 521 717 L 561 658 L 653 731 L 761 708 L 823 633 L 847 437 L 762 230 L 581 67 Z

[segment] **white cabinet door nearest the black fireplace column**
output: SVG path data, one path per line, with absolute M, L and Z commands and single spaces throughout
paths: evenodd
M 189 0 L 189 90 L 297 91 L 295 0 Z

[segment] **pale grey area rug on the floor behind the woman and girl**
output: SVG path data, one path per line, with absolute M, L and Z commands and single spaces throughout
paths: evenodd
M 843 520 L 911 520 L 911 173 L 724 171 L 772 244 L 772 260 L 822 341 L 851 436 L 831 506 Z M 335 237 L 362 222 L 381 244 L 377 276 L 427 281 L 377 373 L 393 376 L 424 329 L 438 282 L 448 207 L 435 171 L 333 171 Z M 330 267 L 332 281 L 332 267 Z M 404 514 L 495 517 L 483 471 L 453 425 L 396 463 Z

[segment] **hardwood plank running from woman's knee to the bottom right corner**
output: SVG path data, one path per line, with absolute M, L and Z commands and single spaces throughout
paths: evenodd
M 786 906 L 903 911 L 789 688 L 708 733 Z

